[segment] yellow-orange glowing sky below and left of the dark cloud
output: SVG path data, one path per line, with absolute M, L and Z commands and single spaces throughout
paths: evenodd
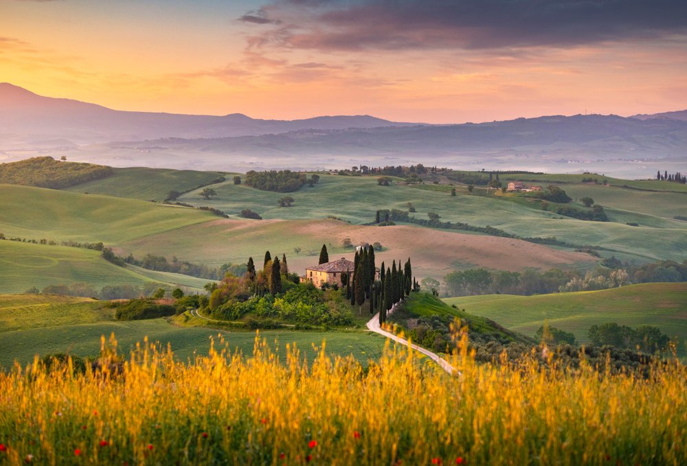
M 255 2 L 171 3 L 4 0 L 0 81 L 118 110 L 265 119 L 461 123 L 687 108 L 679 34 L 509 49 L 295 49 L 250 44 L 256 25 L 236 19 Z

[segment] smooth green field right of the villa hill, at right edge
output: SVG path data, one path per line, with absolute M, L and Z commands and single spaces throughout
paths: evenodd
M 444 301 L 528 336 L 548 322 L 585 343 L 589 327 L 616 322 L 630 327 L 654 325 L 668 336 L 677 336 L 683 350 L 687 341 L 687 283 L 641 283 L 538 296 L 490 294 Z

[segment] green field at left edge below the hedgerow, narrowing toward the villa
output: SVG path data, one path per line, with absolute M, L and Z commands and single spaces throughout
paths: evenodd
M 42 290 L 48 285 L 71 283 L 87 283 L 100 291 L 106 285 L 144 286 L 151 281 L 202 290 L 203 284 L 209 281 L 136 268 L 146 272 L 143 275 L 115 266 L 91 249 L 15 241 L 0 241 L 0 270 L 0 293 L 21 293 L 34 286 Z

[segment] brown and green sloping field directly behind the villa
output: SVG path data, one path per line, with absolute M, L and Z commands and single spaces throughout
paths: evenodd
M 414 226 L 362 226 L 339 220 L 213 220 L 174 231 L 150 235 L 120 245 L 120 252 L 135 256 L 153 253 L 171 255 L 218 266 L 227 261 L 259 260 L 264 251 L 286 253 L 289 268 L 302 272 L 317 260 L 319 248 L 327 244 L 330 259 L 350 257 L 352 249 L 341 247 L 349 237 L 353 244 L 379 242 L 378 263 L 405 261 L 412 257 L 418 277 L 442 277 L 461 266 L 499 270 L 527 267 L 548 269 L 593 264 L 583 253 L 559 251 L 510 238 L 469 235 Z M 294 248 L 301 248 L 296 254 Z

